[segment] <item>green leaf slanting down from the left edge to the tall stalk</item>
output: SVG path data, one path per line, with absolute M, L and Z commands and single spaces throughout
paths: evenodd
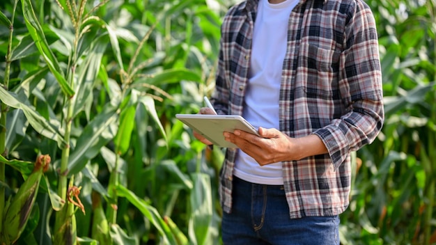
M 28 106 L 26 101 L 20 100 L 15 93 L 8 92 L 3 87 L 0 87 L 0 100 L 10 107 L 21 109 L 24 112 L 27 120 L 29 120 L 30 125 L 32 125 L 36 132 L 47 137 L 48 139 L 56 141 L 60 148 L 65 147 L 66 143 L 63 139 L 63 136 L 59 134 L 58 130 L 55 129 L 54 126 L 52 126 L 52 124 L 45 118 L 40 116 L 38 111 L 35 111 Z

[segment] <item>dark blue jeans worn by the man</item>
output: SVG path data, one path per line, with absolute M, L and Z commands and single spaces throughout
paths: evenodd
M 232 197 L 232 212 L 222 219 L 226 245 L 339 244 L 339 217 L 290 219 L 283 186 L 233 177 Z

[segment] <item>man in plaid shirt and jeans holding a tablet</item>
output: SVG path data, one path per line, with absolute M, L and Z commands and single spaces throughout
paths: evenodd
M 224 133 L 239 147 L 221 169 L 224 244 L 339 244 L 350 151 L 384 120 L 380 69 L 362 0 L 247 0 L 228 11 L 211 101 L 262 137 Z

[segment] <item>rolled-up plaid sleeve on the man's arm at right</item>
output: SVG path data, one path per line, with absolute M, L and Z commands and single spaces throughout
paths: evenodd
M 365 3 L 350 6 L 341 53 L 340 93 L 346 111 L 316 134 L 335 169 L 350 151 L 372 143 L 384 121 L 382 72 L 375 19 Z

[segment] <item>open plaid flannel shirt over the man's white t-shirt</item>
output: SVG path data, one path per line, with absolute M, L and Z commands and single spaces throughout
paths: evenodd
M 257 5 L 244 1 L 224 17 L 212 95 L 219 114 L 242 115 Z M 295 138 L 316 134 L 329 152 L 283 162 L 290 218 L 341 214 L 349 204 L 350 151 L 371 143 L 384 120 L 375 19 L 362 0 L 301 0 L 289 17 L 287 43 L 280 130 Z M 220 173 L 225 212 L 236 154 L 226 150 Z

